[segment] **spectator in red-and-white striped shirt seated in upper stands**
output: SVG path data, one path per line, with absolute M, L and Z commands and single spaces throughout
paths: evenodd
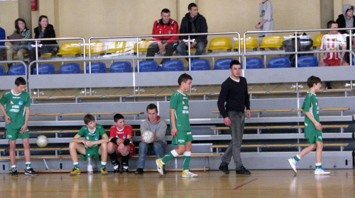
M 337 29 L 338 24 L 335 21 L 329 21 L 327 23 L 327 28 Z M 344 60 L 345 52 L 337 52 L 337 50 L 346 50 L 346 42 L 344 35 L 339 33 L 338 30 L 329 30 L 322 37 L 322 42 L 320 44 L 320 51 L 335 51 L 320 53 L 320 63 L 319 66 L 346 66 L 349 65 Z M 326 82 L 327 88 L 331 89 L 332 86 L 330 82 Z

